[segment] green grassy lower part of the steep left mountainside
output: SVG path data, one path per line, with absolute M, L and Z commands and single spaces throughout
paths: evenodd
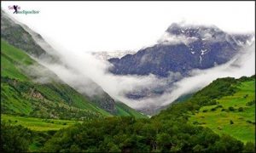
M 31 59 L 19 48 L 1 40 L 1 111 L 3 114 L 59 119 L 89 119 L 111 116 L 107 111 L 90 103 L 83 95 Z M 36 82 L 36 66 L 55 78 L 49 82 Z M 33 70 L 33 69 L 32 69 Z M 32 75 L 31 75 L 32 74 Z

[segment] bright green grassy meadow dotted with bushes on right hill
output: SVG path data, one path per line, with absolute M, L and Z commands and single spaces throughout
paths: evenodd
M 210 127 L 218 134 L 227 133 L 243 142 L 254 142 L 255 124 L 247 121 L 255 122 L 255 104 L 247 106 L 246 103 L 255 100 L 255 80 L 241 82 L 237 88 L 239 91 L 236 94 L 217 100 L 218 105 L 222 105 L 223 108 L 211 111 L 217 105 L 203 106 L 198 113 L 189 118 L 189 121 L 199 122 L 203 127 Z M 244 98 L 245 95 L 247 98 Z M 230 106 L 236 111 L 221 111 L 222 109 L 229 110 Z M 243 111 L 238 111 L 239 107 L 242 107 Z M 203 112 L 204 110 L 207 112 Z M 234 124 L 230 124 L 230 120 Z

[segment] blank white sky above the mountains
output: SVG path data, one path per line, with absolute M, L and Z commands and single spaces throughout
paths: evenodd
M 255 27 L 254 2 L 3 2 L 3 10 L 67 51 L 137 50 L 154 44 L 173 22 Z M 13 14 L 9 5 L 39 14 Z

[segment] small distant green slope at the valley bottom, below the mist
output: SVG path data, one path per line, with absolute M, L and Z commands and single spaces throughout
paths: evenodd
M 143 114 L 131 109 L 128 105 L 124 103 L 116 103 L 117 114 L 116 116 L 134 116 L 136 118 L 147 118 Z

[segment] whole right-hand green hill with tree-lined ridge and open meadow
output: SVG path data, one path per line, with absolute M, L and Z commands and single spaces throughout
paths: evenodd
M 183 109 L 190 124 L 255 144 L 255 76 L 217 79 L 157 117 L 167 119 L 172 109 Z

